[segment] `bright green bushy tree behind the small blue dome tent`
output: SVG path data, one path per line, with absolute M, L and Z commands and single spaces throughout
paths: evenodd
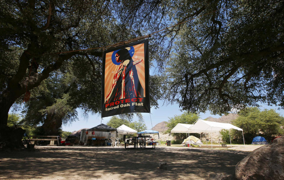
M 284 130 L 281 128 L 284 125 L 284 117 L 273 109 L 260 111 L 257 107 L 245 108 L 239 112 L 239 115 L 232 124 L 243 129 L 247 143 L 251 143 L 256 136 L 262 136 L 267 141 L 271 141 L 273 137 L 284 134 Z M 242 143 L 243 134 L 241 131 L 233 129 L 231 130 L 231 139 L 234 143 Z

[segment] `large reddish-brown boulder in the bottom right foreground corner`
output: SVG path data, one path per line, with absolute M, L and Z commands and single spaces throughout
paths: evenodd
M 284 136 L 252 151 L 235 168 L 238 180 L 284 179 Z

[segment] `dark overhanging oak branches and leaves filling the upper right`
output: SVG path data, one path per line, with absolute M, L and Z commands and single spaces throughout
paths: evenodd
M 283 1 L 172 6 L 177 22 L 209 14 L 168 31 L 177 40 L 171 58 L 161 62 L 167 74 L 164 98 L 183 110 L 219 115 L 263 102 L 284 108 Z

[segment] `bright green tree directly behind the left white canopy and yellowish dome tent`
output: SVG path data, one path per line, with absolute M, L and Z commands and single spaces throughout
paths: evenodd
M 171 133 L 172 128 L 174 128 L 178 123 L 193 124 L 197 119 L 199 119 L 199 115 L 190 112 L 183 112 L 179 116 L 175 115 L 167 122 L 167 127 L 169 129 L 167 129 L 165 133 L 170 133 L 176 140 L 183 141 L 187 135 L 185 133 Z M 191 133 L 191 135 L 198 137 L 196 133 Z

